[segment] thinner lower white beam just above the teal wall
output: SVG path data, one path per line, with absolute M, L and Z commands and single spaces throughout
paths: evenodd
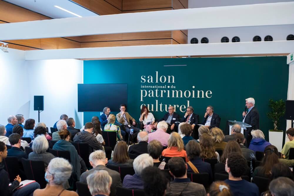
M 26 60 L 277 54 L 293 52 L 293 45 L 294 41 L 262 41 L 27 50 Z

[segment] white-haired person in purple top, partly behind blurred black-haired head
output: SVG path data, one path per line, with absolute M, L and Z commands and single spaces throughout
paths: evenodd
M 123 179 L 123 187 L 131 189 L 143 189 L 144 183 L 141 179 L 141 173 L 144 168 L 149 166 L 153 166 L 153 158 L 148 154 L 141 154 L 135 158 L 133 162 L 135 174 L 125 176 Z

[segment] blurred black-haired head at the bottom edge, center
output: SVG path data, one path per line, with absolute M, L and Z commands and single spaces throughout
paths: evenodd
M 160 169 L 151 166 L 146 167 L 142 170 L 141 178 L 146 196 L 165 195 L 168 179 Z

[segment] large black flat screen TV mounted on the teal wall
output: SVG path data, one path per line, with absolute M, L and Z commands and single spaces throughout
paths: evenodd
M 120 104 L 128 102 L 127 84 L 78 84 L 78 112 L 119 111 Z

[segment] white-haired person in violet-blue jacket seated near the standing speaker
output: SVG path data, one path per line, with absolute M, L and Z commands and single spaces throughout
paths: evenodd
M 264 134 L 259 129 L 251 131 L 252 140 L 249 145 L 249 149 L 254 152 L 263 152 L 265 147 L 271 145 L 268 141 L 265 141 Z

